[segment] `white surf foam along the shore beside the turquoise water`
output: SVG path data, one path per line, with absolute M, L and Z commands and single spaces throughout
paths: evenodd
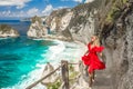
M 60 60 L 65 59 L 65 60 L 73 60 L 78 61 L 81 56 L 84 53 L 84 47 L 78 43 L 70 43 L 70 42 L 63 42 L 59 40 L 54 40 L 57 46 L 52 46 L 49 48 L 48 52 L 44 51 L 42 53 L 42 57 L 47 60 L 49 60 L 54 67 L 58 67 L 60 63 Z M 2 89 L 25 89 L 32 82 L 37 81 L 42 77 L 42 72 L 44 69 L 44 63 L 42 63 L 44 60 L 40 60 L 39 63 L 37 63 L 37 69 L 32 70 L 29 72 L 28 76 L 23 76 L 21 78 L 22 81 L 18 82 L 13 87 L 9 88 L 2 88 Z M 38 85 L 32 89 L 47 89 L 42 85 Z

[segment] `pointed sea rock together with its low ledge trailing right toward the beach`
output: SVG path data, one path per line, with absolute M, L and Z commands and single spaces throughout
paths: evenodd
M 59 39 L 64 41 L 71 41 L 71 37 L 65 37 L 61 32 L 51 29 L 45 22 L 47 18 L 33 17 L 31 18 L 31 24 L 27 32 L 27 36 L 33 39 Z

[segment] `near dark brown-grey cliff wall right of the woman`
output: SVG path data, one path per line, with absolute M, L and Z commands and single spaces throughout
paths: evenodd
M 113 3 L 108 17 L 96 30 L 106 47 L 106 65 L 112 73 L 113 89 L 133 89 L 133 3 Z M 110 18 L 110 19 L 109 19 Z

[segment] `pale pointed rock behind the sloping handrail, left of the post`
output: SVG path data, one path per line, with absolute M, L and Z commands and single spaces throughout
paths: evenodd
M 48 62 L 43 70 L 42 77 L 49 75 L 53 70 L 54 70 L 53 66 Z M 59 79 L 59 75 L 57 72 L 54 72 L 52 76 L 44 79 L 41 83 L 47 86 L 48 83 L 55 82 L 58 79 Z

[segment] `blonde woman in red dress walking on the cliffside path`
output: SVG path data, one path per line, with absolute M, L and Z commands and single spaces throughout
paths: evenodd
M 104 47 L 100 46 L 100 40 L 96 36 L 91 37 L 91 42 L 88 44 L 88 51 L 82 57 L 82 61 L 88 67 L 89 71 L 89 87 L 91 89 L 94 81 L 94 71 L 100 69 L 105 69 L 105 65 L 99 59 L 100 55 L 102 57 L 102 51 Z

